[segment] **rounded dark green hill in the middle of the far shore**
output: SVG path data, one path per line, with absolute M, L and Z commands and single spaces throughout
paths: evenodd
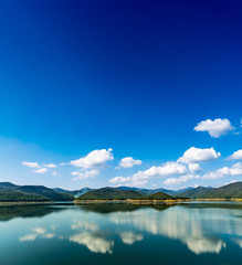
M 140 193 L 134 190 L 120 190 L 117 188 L 102 188 L 88 191 L 77 200 L 126 200 L 140 198 Z

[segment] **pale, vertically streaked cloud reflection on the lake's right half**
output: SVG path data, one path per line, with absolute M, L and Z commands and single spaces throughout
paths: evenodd
M 180 240 L 196 254 L 219 254 L 227 246 L 219 237 L 220 234 L 242 235 L 241 220 L 230 215 L 233 211 L 223 210 L 217 213 L 211 209 L 201 211 L 175 206 L 164 212 L 154 210 L 116 212 L 109 219 L 119 226 L 129 224 L 143 232 Z

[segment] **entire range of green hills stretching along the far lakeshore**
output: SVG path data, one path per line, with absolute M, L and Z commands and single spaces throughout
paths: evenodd
M 150 200 L 164 200 L 171 197 L 190 199 L 242 199 L 242 182 L 235 182 L 220 188 L 198 187 L 179 191 L 166 189 L 140 188 L 102 188 L 92 190 L 83 188 L 69 191 L 60 188 L 50 189 L 44 186 L 15 186 L 0 182 L 0 201 L 73 201 L 78 200 L 126 200 L 147 197 Z

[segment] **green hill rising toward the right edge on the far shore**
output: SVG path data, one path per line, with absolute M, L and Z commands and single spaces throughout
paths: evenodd
M 191 199 L 241 199 L 242 182 L 235 182 L 220 188 L 198 187 L 193 190 L 181 192 L 179 195 Z

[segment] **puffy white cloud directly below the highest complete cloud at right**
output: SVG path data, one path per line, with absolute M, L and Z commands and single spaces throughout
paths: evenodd
M 197 162 L 206 162 L 218 159 L 221 156 L 220 152 L 217 152 L 213 148 L 189 148 L 182 157 L 178 159 L 178 162 L 183 163 L 197 163 Z

